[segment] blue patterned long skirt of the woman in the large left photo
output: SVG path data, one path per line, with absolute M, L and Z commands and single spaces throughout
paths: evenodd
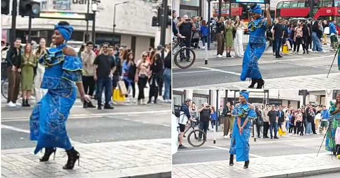
M 66 121 L 76 97 L 75 86 L 49 89 L 34 107 L 30 117 L 30 139 L 38 141 L 34 154 L 43 148 L 72 148 L 66 132 Z

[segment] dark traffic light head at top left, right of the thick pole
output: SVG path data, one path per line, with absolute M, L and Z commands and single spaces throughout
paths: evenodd
M 21 15 L 22 17 L 30 15 L 31 17 L 39 17 L 40 2 L 35 2 L 31 0 L 20 0 L 19 15 Z

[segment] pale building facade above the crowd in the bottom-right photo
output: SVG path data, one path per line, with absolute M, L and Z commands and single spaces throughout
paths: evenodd
M 303 96 L 299 95 L 299 90 L 254 90 L 250 89 L 249 102 L 255 105 L 274 104 L 274 105 L 291 105 L 293 108 L 299 108 L 303 105 Z M 306 104 L 326 105 L 330 107 L 329 102 L 335 101 L 334 96 L 340 90 L 308 90 Z M 218 94 L 218 97 L 216 97 Z M 198 107 L 205 102 L 209 105 L 224 107 L 227 102 L 231 104 L 238 103 L 239 90 L 173 90 L 173 104 L 181 105 L 185 98 L 190 98 Z

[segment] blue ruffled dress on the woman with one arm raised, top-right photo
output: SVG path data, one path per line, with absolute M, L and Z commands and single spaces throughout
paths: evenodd
M 258 60 L 266 50 L 265 32 L 267 26 L 268 22 L 263 17 L 248 24 L 250 35 L 249 43 L 243 57 L 241 81 L 245 81 L 247 77 L 254 79 L 262 78 L 258 67 Z

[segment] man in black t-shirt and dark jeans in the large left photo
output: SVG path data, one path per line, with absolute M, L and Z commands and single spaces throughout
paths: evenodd
M 97 99 L 98 109 L 102 109 L 102 92 L 105 87 L 105 105 L 104 109 L 113 109 L 109 102 L 112 93 L 112 76 L 115 63 L 108 51 L 108 43 L 103 43 L 102 54 L 98 55 L 94 61 L 95 64 L 95 80 L 97 81 Z

